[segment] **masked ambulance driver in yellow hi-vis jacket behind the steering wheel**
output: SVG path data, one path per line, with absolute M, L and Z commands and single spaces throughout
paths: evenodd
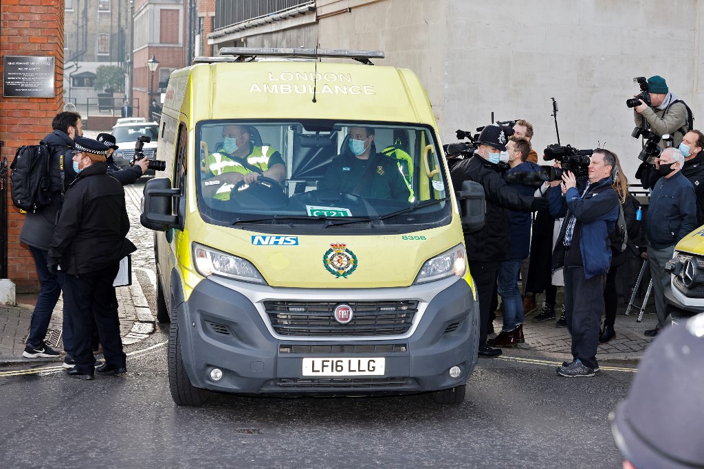
M 239 181 L 255 182 L 260 176 L 282 182 L 286 167 L 281 153 L 270 146 L 255 146 L 249 128 L 242 125 L 222 127 L 222 149 L 208 155 L 208 172 L 203 193 L 220 200 L 230 199 L 230 189 Z

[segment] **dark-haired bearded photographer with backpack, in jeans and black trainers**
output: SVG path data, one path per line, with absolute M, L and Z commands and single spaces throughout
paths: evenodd
M 56 215 L 61 210 L 62 186 L 65 189 L 76 175 L 71 167 L 71 155 L 68 154 L 68 151 L 73 148 L 74 140 L 83 135 L 81 115 L 70 112 L 58 113 L 54 117 L 54 121 L 51 122 L 51 127 L 54 131 L 45 136 L 41 142 L 48 145 L 51 151 L 49 156 L 51 205 L 38 212 L 28 212 L 25 215 L 25 223 L 20 233 L 20 241 L 25 243 L 32 252 L 34 264 L 37 267 L 37 278 L 42 284 L 37 297 L 37 305 L 32 312 L 30 334 L 27 336 L 27 346 L 23 352 L 25 358 L 58 358 L 60 356 L 59 352 L 44 344 L 44 337 L 46 337 L 46 330 L 49 328 L 51 314 L 54 313 L 54 307 L 56 307 L 58 297 L 61 295 L 63 274 L 59 274 L 58 277 L 49 275 L 49 272 L 46 271 L 46 259 L 49 254 L 51 234 L 54 233 L 56 225 Z M 63 318 L 63 349 L 67 355 L 64 364 L 70 366 L 73 334 L 66 319 L 65 307 Z

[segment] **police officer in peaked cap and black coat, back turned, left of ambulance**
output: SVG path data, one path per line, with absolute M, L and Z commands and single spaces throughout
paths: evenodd
M 61 265 L 64 273 L 64 301 L 74 335 L 75 366 L 68 375 L 92 380 L 93 319 L 105 356 L 105 364 L 97 372 L 115 375 L 127 371 L 113 281 L 120 259 L 137 248 L 125 238 L 130 231 L 125 191 L 107 174 L 105 146 L 79 137 L 72 153 L 78 174 L 66 191 L 46 268 L 56 274 Z

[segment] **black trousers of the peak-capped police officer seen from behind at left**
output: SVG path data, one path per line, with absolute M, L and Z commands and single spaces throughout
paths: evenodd
M 113 287 L 119 268 L 119 264 L 115 264 L 90 274 L 65 276 L 63 295 L 73 328 L 72 358 L 80 373 L 94 373 L 94 327 L 97 328 L 100 343 L 103 344 L 106 364 L 118 368 L 125 366 L 126 356 L 125 352 L 122 352 L 118 319 L 118 299 Z

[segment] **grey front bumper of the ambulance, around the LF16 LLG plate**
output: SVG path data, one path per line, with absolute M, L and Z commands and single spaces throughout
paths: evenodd
M 238 394 L 406 394 L 465 384 L 477 364 L 479 306 L 463 279 L 434 287 L 414 285 L 373 291 L 270 288 L 206 279 L 175 308 L 184 366 L 195 387 Z M 223 284 L 225 283 L 225 284 Z M 231 285 L 227 285 L 230 283 Z M 237 288 L 232 288 L 237 285 Z M 401 337 L 282 338 L 262 313 L 263 299 L 311 295 L 340 301 L 416 299 L 423 311 Z M 303 358 L 384 357 L 382 376 L 303 376 Z M 460 366 L 451 378 L 448 370 Z M 210 371 L 222 370 L 213 381 Z

